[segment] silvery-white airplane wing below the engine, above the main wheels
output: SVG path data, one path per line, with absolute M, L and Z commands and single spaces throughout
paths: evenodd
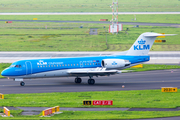
M 71 76 L 106 76 L 119 74 L 121 71 L 118 70 L 77 70 L 77 71 L 68 71 Z

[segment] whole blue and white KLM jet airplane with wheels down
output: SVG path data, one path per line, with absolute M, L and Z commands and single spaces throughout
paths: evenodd
M 156 37 L 176 34 L 142 33 L 131 48 L 124 52 L 108 56 L 90 56 L 74 58 L 48 58 L 19 60 L 1 72 L 1 75 L 20 81 L 24 79 L 49 77 L 75 77 L 75 83 L 81 83 L 81 77 L 88 76 L 88 84 L 95 84 L 93 77 L 120 74 L 121 70 L 150 60 L 150 51 Z

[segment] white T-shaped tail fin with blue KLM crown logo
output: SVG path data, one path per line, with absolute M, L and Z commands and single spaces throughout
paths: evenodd
M 127 51 L 126 55 L 148 55 L 149 50 L 151 49 L 156 37 L 158 36 L 173 36 L 176 34 L 160 34 L 146 32 L 141 34 L 131 48 Z

